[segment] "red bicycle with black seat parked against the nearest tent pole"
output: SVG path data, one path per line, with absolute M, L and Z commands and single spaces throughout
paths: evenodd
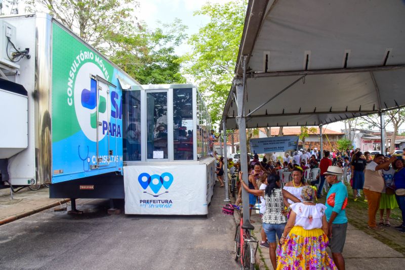
M 232 205 L 233 208 L 240 210 L 241 207 L 237 205 Z M 257 210 L 257 208 L 252 209 Z M 259 240 L 254 238 L 250 230 L 254 230 L 255 227 L 252 226 L 251 223 L 244 224 L 243 217 L 240 217 L 240 222 L 238 226 L 236 226 L 235 232 L 235 248 L 234 248 L 234 259 L 237 261 L 240 258 L 240 264 L 242 270 L 255 269 L 255 257 L 258 248 Z M 256 246 L 255 246 L 256 245 Z

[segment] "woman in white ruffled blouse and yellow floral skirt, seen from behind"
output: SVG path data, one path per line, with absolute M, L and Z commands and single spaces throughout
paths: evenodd
M 302 188 L 302 202 L 290 205 L 291 213 L 280 238 L 277 269 L 337 269 L 328 255 L 326 206 L 315 204 L 315 191 Z

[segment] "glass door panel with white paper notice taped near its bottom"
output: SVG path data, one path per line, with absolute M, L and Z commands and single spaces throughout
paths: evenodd
M 168 154 L 168 92 L 146 93 L 146 159 L 164 160 Z

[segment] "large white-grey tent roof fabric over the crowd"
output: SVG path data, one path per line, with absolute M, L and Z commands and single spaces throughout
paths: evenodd
M 237 128 L 244 57 L 248 128 L 317 126 L 404 106 L 403 14 L 400 0 L 249 1 L 227 128 Z

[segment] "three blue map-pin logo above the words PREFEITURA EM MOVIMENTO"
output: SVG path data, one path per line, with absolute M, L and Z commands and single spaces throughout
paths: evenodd
M 173 175 L 169 172 L 164 172 L 160 175 L 152 174 L 143 172 L 138 176 L 138 182 L 141 187 L 146 190 L 148 187 L 154 194 L 150 194 L 146 191 L 143 193 L 147 193 L 152 195 L 153 197 L 159 197 L 162 194 L 169 193 L 169 191 L 159 193 L 161 187 L 164 187 L 166 190 L 170 188 L 173 183 Z M 159 193 L 159 194 L 158 194 Z

